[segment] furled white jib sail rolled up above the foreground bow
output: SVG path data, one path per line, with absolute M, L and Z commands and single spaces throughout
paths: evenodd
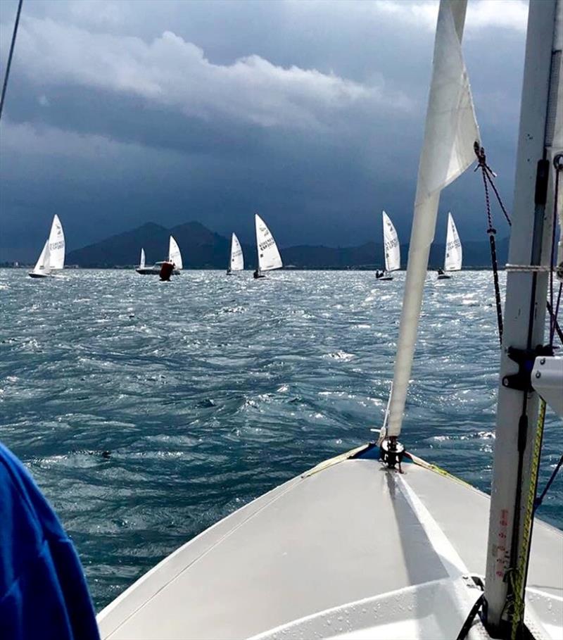
M 403 423 L 440 192 L 471 165 L 475 159 L 473 145 L 479 140 L 461 47 L 466 8 L 467 0 L 441 0 L 438 11 L 432 80 L 391 391 L 390 436 L 398 436 Z

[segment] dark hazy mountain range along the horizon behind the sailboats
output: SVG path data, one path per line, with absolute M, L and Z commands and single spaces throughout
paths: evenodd
M 186 222 L 167 229 L 154 222 L 126 231 L 105 240 L 75 249 L 67 254 L 68 265 L 80 267 L 111 268 L 137 264 L 141 246 L 144 247 L 147 263 L 166 258 L 168 237 L 172 234 L 182 250 L 184 268 L 227 268 L 230 239 L 210 231 L 201 222 Z M 245 264 L 254 267 L 255 246 L 243 244 Z M 498 260 L 504 265 L 507 260 L 508 239 L 499 239 Z M 301 269 L 350 269 L 381 268 L 384 263 L 383 246 L 366 242 L 360 246 L 329 247 L 289 246 L 280 249 L 281 258 L 287 267 Z M 402 262 L 406 265 L 408 245 L 401 245 Z M 443 264 L 444 245 L 433 244 L 430 251 L 430 266 Z M 463 243 L 464 267 L 488 267 L 491 265 L 488 239 Z

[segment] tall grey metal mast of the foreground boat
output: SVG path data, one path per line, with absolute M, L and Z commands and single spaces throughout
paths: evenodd
M 554 47 L 556 11 L 560 21 L 562 0 L 531 2 L 529 6 L 509 249 L 511 264 L 547 266 L 550 263 L 552 199 L 548 198 L 546 204 L 538 198 L 536 177 L 538 162 L 549 160 L 548 194 L 552 192 L 550 120 L 561 111 L 553 103 L 548 106 L 549 96 L 556 102 L 561 98 L 558 86 L 561 56 L 557 52 L 552 55 L 557 49 Z M 547 270 L 507 273 L 485 582 L 487 622 L 493 634 L 502 633 L 503 620 L 507 620 L 510 613 L 507 598 L 514 595 L 510 592 L 514 581 L 507 579 L 507 572 L 515 572 L 521 556 L 529 556 L 529 545 L 522 548 L 525 496 L 532 480 L 531 458 L 538 417 L 536 393 L 529 388 L 522 391 L 506 386 L 506 377 L 519 370 L 517 363 L 509 358 L 508 349 L 533 349 L 543 344 L 547 289 Z M 524 578 L 527 560 L 525 566 Z

